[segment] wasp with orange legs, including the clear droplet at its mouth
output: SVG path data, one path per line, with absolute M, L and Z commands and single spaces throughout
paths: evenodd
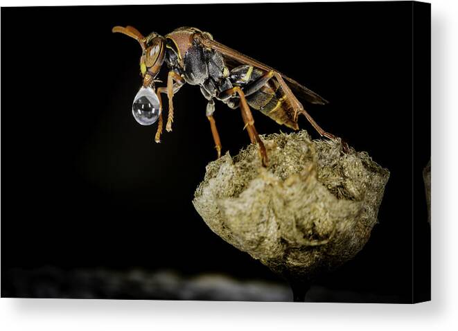
M 112 32 L 128 35 L 141 46 L 140 71 L 143 84 L 134 98 L 132 114 L 141 125 L 152 125 L 158 121 L 155 135 L 157 143 L 160 142 L 163 129 L 161 94 L 166 94 L 168 98 L 166 130 L 170 132 L 173 123 L 173 96 L 186 83 L 198 85 L 208 100 L 206 117 L 210 122 L 218 158 L 221 156 L 221 141 L 213 118 L 215 100 L 224 102 L 231 109 L 240 108 L 244 129 L 250 141 L 258 144 L 264 166 L 268 162 L 267 152 L 254 127 L 251 108 L 292 129 L 299 129 L 297 120 L 299 114 L 302 114 L 321 136 L 337 138 L 319 127 L 297 96 L 315 105 L 325 105 L 327 101 L 324 98 L 272 67 L 216 42 L 210 33 L 183 27 L 165 37 L 154 32 L 143 37 L 132 26 L 115 26 Z M 159 82 L 156 77 L 164 62 L 168 67 L 167 84 L 156 88 L 155 82 Z

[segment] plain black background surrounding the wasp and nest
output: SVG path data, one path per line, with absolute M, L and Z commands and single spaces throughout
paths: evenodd
M 412 176 L 411 3 L 2 8 L 3 296 L 9 270 L 46 265 L 283 282 L 211 232 L 191 204 L 206 163 L 215 159 L 199 89 L 177 93 L 173 132 L 161 144 L 154 143 L 156 126 L 135 122 L 141 49 L 112 34 L 115 25 L 144 35 L 195 26 L 329 100 L 306 107 L 391 177 L 366 247 L 317 283 L 412 301 L 415 224 L 416 290 L 429 297 L 421 169 L 430 158 L 430 119 L 416 116 L 424 134 Z M 260 133 L 290 132 L 254 117 Z M 247 145 L 239 111 L 217 104 L 215 119 L 223 152 Z M 305 119 L 299 124 L 317 137 Z M 419 191 L 413 221 L 412 180 Z

